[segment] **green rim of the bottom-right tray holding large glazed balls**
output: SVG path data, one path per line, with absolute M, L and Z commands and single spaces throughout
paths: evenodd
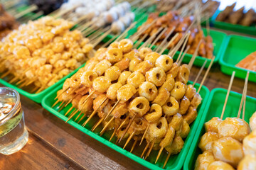
M 190 147 L 190 149 L 189 149 L 189 151 L 188 151 L 188 154 L 187 154 L 187 157 L 186 157 L 186 161 L 185 161 L 184 166 L 183 166 L 183 170 L 190 170 L 190 169 L 188 169 L 188 165 L 189 165 L 190 162 L 191 162 L 191 156 L 192 156 L 193 152 L 195 152 L 196 148 L 198 147 L 198 140 L 199 140 L 199 138 L 201 137 L 201 136 L 200 136 L 201 130 L 202 130 L 203 125 L 204 125 L 204 123 L 205 123 L 206 115 L 207 115 L 208 110 L 209 110 L 209 108 L 210 108 L 210 103 L 211 103 L 211 101 L 213 100 L 214 94 L 215 94 L 216 92 L 218 92 L 218 91 L 225 91 L 225 93 L 227 93 L 227 92 L 226 92 L 227 90 L 226 90 L 226 89 L 222 89 L 222 88 L 215 88 L 215 89 L 213 89 L 212 91 L 210 91 L 210 96 L 208 97 L 208 101 L 207 101 L 207 103 L 206 103 L 206 107 L 205 107 L 205 109 L 204 109 L 203 116 L 202 116 L 200 122 L 198 123 L 198 128 L 197 128 L 197 130 L 196 130 L 196 134 L 195 134 L 194 137 L 193 137 L 193 141 L 192 141 L 192 143 L 191 143 L 191 147 Z M 238 92 L 235 92 L 235 91 L 230 91 L 230 93 L 233 93 L 233 94 L 235 94 L 235 95 L 240 95 L 240 96 L 242 96 L 242 94 L 239 94 Z M 246 98 L 252 98 L 252 97 L 246 96 Z M 255 100 L 255 101 L 256 101 L 256 98 L 252 98 L 252 100 Z

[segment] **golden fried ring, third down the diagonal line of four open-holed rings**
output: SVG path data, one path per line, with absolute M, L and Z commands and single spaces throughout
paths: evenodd
M 157 96 L 157 89 L 154 84 L 148 81 L 139 85 L 139 96 L 143 96 L 149 101 L 154 101 Z

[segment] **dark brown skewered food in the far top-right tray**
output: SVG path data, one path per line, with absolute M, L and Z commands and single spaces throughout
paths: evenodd
M 245 12 L 245 7 L 239 8 L 234 11 L 235 4 L 227 6 L 223 11 L 221 11 L 216 21 L 223 21 L 232 24 L 239 24 L 242 26 L 251 26 L 252 23 L 256 23 L 256 13 L 253 8 Z

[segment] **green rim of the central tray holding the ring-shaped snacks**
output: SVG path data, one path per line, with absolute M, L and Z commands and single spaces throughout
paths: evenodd
M 189 81 L 192 82 L 192 81 Z M 196 86 L 199 86 L 199 84 L 196 84 Z M 56 93 L 60 88 L 62 88 L 62 84 L 60 84 L 58 86 L 58 88 L 55 88 L 53 91 L 50 91 L 49 94 L 47 94 L 42 101 L 42 106 L 43 108 L 45 108 L 47 111 L 49 111 L 50 113 L 53 113 L 53 115 L 57 116 L 58 118 L 60 118 L 61 120 L 68 120 L 68 118 L 66 118 L 64 115 L 58 113 L 58 111 L 55 111 L 53 108 L 51 108 L 50 106 L 48 106 L 46 104 L 46 100 L 48 99 L 49 96 L 51 96 L 53 93 Z M 196 134 L 196 129 L 198 128 L 198 123 L 201 120 L 201 117 L 203 116 L 203 112 L 206 108 L 206 103 L 208 101 L 208 97 L 210 96 L 210 91 L 206 86 L 202 86 L 202 89 L 204 89 L 206 91 L 206 96 L 203 98 L 203 103 L 201 103 L 201 109 L 198 112 L 198 117 L 196 118 L 196 120 L 193 123 L 193 127 L 191 128 L 191 132 L 189 133 L 188 137 L 186 138 L 186 148 L 183 152 L 185 155 L 183 156 L 183 159 L 179 159 L 178 164 L 176 165 L 176 167 L 172 170 L 178 170 L 181 169 L 185 158 L 188 154 L 188 151 L 191 149 L 191 147 L 189 146 L 189 143 L 191 143 L 193 141 L 193 137 Z M 87 130 L 86 128 L 82 127 L 81 125 L 79 125 L 78 123 L 75 123 L 73 120 L 68 121 L 68 123 L 70 125 L 72 125 L 73 127 L 77 128 L 78 130 L 80 130 L 81 132 L 84 132 L 86 135 L 89 135 L 90 137 L 94 138 L 95 140 L 101 142 L 104 145 L 107 145 L 107 147 L 110 147 L 111 149 L 114 149 L 115 151 L 119 152 L 120 154 L 123 154 L 124 156 L 128 157 L 129 159 L 134 160 L 135 162 L 142 164 L 143 166 L 146 166 L 149 169 L 161 169 L 159 166 L 156 166 L 155 164 L 151 164 L 150 162 L 147 162 L 144 159 L 141 159 L 139 157 L 137 157 L 135 154 L 132 154 L 130 152 L 128 152 L 125 149 L 122 149 L 121 147 L 114 145 L 112 142 L 109 142 L 108 140 L 105 140 L 103 137 L 100 137 L 99 135 L 96 135 L 94 132 L 91 132 L 90 130 Z M 124 153 L 123 153 L 124 152 Z

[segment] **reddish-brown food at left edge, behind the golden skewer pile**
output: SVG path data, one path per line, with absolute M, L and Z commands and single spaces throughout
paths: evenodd
M 0 40 L 9 34 L 11 30 L 18 28 L 18 23 L 14 16 L 7 13 L 2 4 L 0 4 L 0 23 Z

